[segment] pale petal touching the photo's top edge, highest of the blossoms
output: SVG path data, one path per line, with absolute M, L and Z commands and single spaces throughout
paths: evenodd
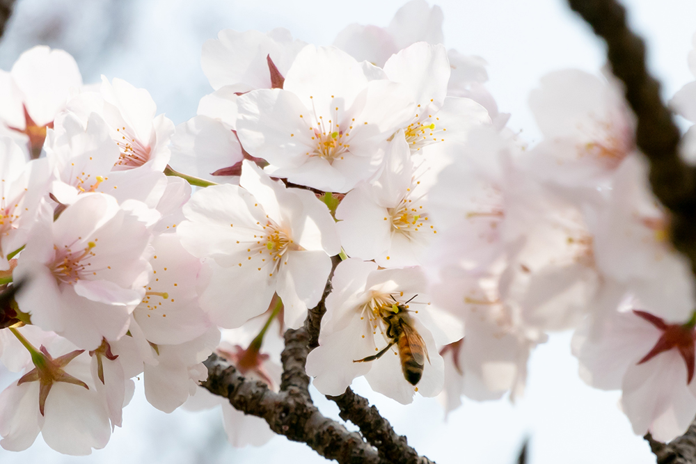
M 394 38 L 397 49 L 403 49 L 415 42 L 441 44 L 443 39 L 442 9 L 432 8 L 425 0 L 411 0 L 397 10 L 389 23 L 387 31 Z

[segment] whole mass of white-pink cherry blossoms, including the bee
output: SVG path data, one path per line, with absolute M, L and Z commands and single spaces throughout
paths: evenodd
M 214 93 L 178 127 L 146 90 L 84 86 L 64 51 L 0 71 L 0 283 L 19 286 L 0 445 L 104 447 L 141 377 L 155 408 L 221 404 L 230 441 L 262 445 L 262 419 L 197 386 L 202 362 L 277 389 L 283 330 L 328 281 L 306 365 L 323 394 L 365 376 L 447 410 L 514 397 L 530 351 L 573 329 L 580 376 L 623 391 L 635 433 L 683 433 L 696 289 L 620 86 L 544 77 L 530 147 L 442 20 L 413 0 L 333 47 L 222 31 L 203 47 Z M 689 84 L 673 106 L 694 120 L 695 101 Z

